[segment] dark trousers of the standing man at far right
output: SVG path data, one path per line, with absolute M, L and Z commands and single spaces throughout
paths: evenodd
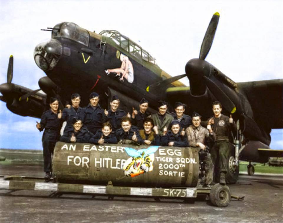
M 230 144 L 228 141 L 216 141 L 210 150 L 213 165 L 219 165 L 220 173 L 227 173 Z M 216 161 L 218 160 L 218 163 Z

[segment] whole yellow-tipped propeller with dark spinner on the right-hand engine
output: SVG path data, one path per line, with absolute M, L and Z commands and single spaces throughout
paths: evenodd
M 213 70 L 213 66 L 205 61 L 205 58 L 211 48 L 216 28 L 219 21 L 219 13 L 215 12 L 210 20 L 208 28 L 205 32 L 203 42 L 200 47 L 199 58 L 189 60 L 186 64 L 185 71 L 186 74 L 178 75 L 166 80 L 159 81 L 147 87 L 147 91 L 156 87 L 166 86 L 174 81 L 177 81 L 185 76 L 189 78 L 190 81 L 190 91 L 192 95 L 203 95 L 205 94 L 206 88 L 223 104 L 223 107 L 230 113 L 236 111 L 236 106 L 231 101 L 231 99 L 221 90 L 219 85 L 224 83 L 215 83 L 215 78 L 221 78 L 229 86 L 236 88 L 236 83 L 234 83 L 230 78 L 225 76 L 223 73 L 218 73 L 218 71 Z M 216 73 L 217 76 L 215 75 Z M 219 82 L 219 81 L 217 81 Z

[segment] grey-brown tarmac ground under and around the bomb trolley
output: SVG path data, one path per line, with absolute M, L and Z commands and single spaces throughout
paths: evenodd
M 1 165 L 0 175 L 43 177 L 42 166 Z M 239 176 L 229 206 L 212 206 L 205 197 L 191 203 L 166 199 L 0 190 L 0 222 L 283 222 L 282 176 Z

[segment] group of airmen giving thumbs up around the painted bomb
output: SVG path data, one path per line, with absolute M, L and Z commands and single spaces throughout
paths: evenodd
M 205 177 L 202 184 L 213 184 L 214 166 L 219 165 L 220 183 L 225 184 L 227 159 L 231 149 L 229 135 L 235 131 L 233 118 L 221 114 L 222 105 L 215 101 L 212 105 L 213 117 L 201 120 L 201 115 L 184 114 L 185 104 L 175 103 L 175 112 L 169 114 L 168 104 L 158 102 L 158 112 L 147 111 L 149 102 L 141 99 L 139 110 L 133 108 L 132 114 L 119 109 L 120 100 L 114 95 L 110 109 L 102 109 L 99 95 L 95 92 L 89 96 L 87 107 L 80 107 L 80 95 L 71 96 L 72 105 L 59 110 L 56 98 L 50 99 L 50 109 L 42 114 L 37 129 L 42 135 L 45 179 L 52 176 L 52 155 L 57 141 L 93 144 L 121 143 L 136 145 L 161 145 L 174 147 L 199 147 L 200 162 L 205 164 Z M 66 122 L 60 137 L 62 123 Z

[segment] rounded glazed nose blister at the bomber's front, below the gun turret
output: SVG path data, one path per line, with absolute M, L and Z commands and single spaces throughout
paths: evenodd
M 52 70 L 62 55 L 62 45 L 58 40 L 50 39 L 42 42 L 34 48 L 34 61 L 44 70 Z

